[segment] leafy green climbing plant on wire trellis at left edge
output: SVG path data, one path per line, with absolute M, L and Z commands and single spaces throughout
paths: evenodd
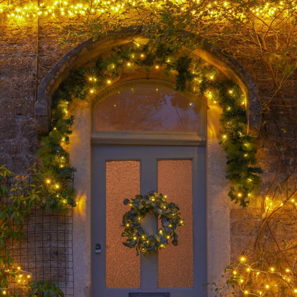
M 44 190 L 34 167 L 24 175 L 14 175 L 4 165 L 0 166 L 0 290 L 3 295 L 9 296 L 11 279 L 18 278 L 23 282 L 31 276 L 14 263 L 7 243 L 26 239 L 23 233 L 24 216 L 34 206 L 45 207 Z

